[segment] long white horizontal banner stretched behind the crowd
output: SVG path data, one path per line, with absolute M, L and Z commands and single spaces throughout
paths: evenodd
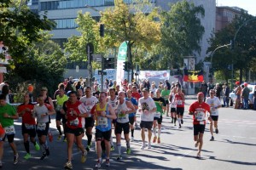
M 169 80 L 170 71 L 140 71 L 140 79 L 158 78 Z

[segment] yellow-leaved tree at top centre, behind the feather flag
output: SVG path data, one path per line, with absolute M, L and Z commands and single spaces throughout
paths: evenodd
M 122 0 L 115 0 L 113 8 L 102 12 L 101 22 L 105 25 L 105 37 L 102 47 L 118 47 L 121 42 L 127 42 L 128 61 L 134 67 L 131 48 L 150 50 L 154 43 L 160 42 L 160 21 L 157 8 L 150 6 L 149 1 L 135 2 L 127 5 Z M 148 11 L 145 8 L 150 8 Z M 149 11 L 150 10 L 150 11 Z M 133 77 L 133 71 L 131 70 Z

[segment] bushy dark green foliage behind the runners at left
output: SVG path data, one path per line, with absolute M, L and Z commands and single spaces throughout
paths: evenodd
M 47 33 L 43 35 L 44 39 L 41 42 L 32 44 L 31 52 L 27 54 L 29 57 L 25 57 L 22 63 L 13 60 L 12 65 L 15 65 L 15 69 L 8 68 L 10 71 L 5 74 L 5 79 L 11 82 L 15 93 L 20 91 L 20 88 L 15 88 L 19 87 L 20 83 L 33 82 L 36 89 L 45 86 L 49 88 L 49 94 L 52 95 L 58 83 L 63 80 L 67 59 L 60 46 L 49 40 Z

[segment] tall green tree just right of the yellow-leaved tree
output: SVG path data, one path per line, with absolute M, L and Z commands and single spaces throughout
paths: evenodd
M 181 66 L 183 56 L 200 53 L 204 33 L 200 16 L 204 17 L 204 14 L 202 6 L 195 7 L 187 1 L 173 3 L 171 10 L 163 12 L 161 46 L 163 60 L 169 61 L 169 69 Z

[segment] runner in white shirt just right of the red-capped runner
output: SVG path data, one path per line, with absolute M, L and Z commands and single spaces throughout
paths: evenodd
M 218 97 L 214 96 L 215 95 L 214 90 L 210 90 L 209 94 L 210 94 L 210 97 L 207 98 L 206 103 L 208 105 L 210 105 L 211 112 L 212 112 L 212 115 L 209 117 L 209 121 L 211 122 L 210 123 L 210 132 L 212 134 L 212 138 L 210 139 L 210 141 L 213 141 L 214 140 L 213 124 L 215 127 L 215 133 L 218 133 L 218 109 L 221 108 L 221 102 L 218 99 Z

